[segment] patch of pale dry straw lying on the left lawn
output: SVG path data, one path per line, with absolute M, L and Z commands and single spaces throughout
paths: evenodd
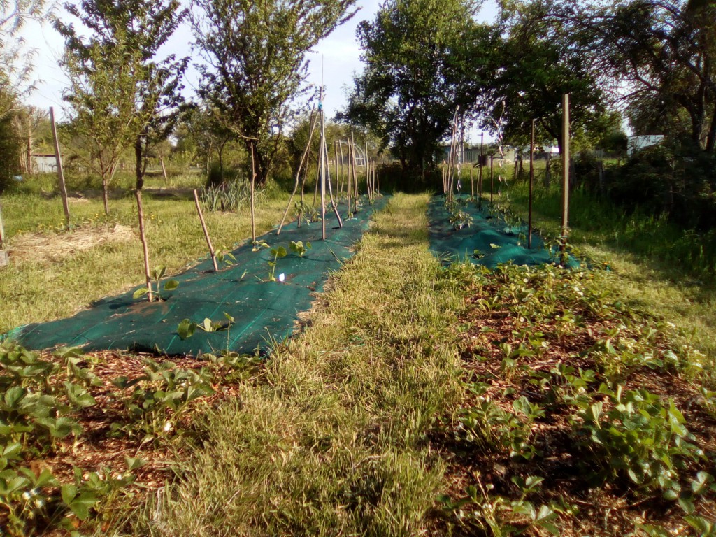
M 72 233 L 21 233 L 9 242 L 8 253 L 11 262 L 43 263 L 59 261 L 103 243 L 125 242 L 133 238 L 132 229 L 120 224 L 77 229 Z

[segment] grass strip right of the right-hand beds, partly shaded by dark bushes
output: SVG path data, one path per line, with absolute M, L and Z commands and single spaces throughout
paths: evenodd
M 527 219 L 527 186 L 511 181 L 495 203 Z M 548 238 L 559 236 L 561 190 L 538 185 L 533 226 Z M 711 359 L 716 359 L 716 281 L 699 256 L 701 238 L 664 218 L 626 213 L 583 190 L 571 194 L 571 245 L 592 261 L 608 264 L 604 284 L 630 304 L 679 326 Z

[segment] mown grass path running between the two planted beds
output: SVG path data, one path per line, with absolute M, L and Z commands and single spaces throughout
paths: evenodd
M 459 395 L 463 307 L 427 252 L 426 200 L 397 195 L 375 216 L 312 326 L 210 412 L 180 479 L 147 508 L 155 533 L 420 533 L 445 468 L 427 432 Z

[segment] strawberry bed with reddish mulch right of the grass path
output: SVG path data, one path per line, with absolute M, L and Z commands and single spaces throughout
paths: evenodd
M 463 404 L 433 440 L 459 463 L 458 534 L 716 535 L 713 367 L 601 271 L 455 266 Z M 604 527 L 602 527 L 602 521 Z

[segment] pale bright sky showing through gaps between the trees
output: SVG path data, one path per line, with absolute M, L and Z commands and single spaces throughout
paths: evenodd
M 352 86 L 354 74 L 362 72 L 360 47 L 356 39 L 356 29 L 360 21 L 372 20 L 382 2 L 379 0 L 359 0 L 359 11 L 352 19 L 334 30 L 332 34 L 319 42 L 313 52 L 309 52 L 309 77 L 306 82 L 319 86 L 321 76 L 326 86 L 324 110 L 327 117 L 333 117 L 341 110 L 347 100 L 348 88 Z M 480 10 L 480 21 L 492 21 L 497 12 L 494 0 L 487 0 Z M 69 21 L 64 10 L 58 11 L 60 19 Z M 62 90 L 67 87 L 67 78 L 59 68 L 64 42 L 62 37 L 49 24 L 29 23 L 23 31 L 29 47 L 37 51 L 35 76 L 37 89 L 26 97 L 25 102 L 39 108 L 54 107 L 59 119 L 65 117 L 62 109 Z M 188 24 L 181 26 L 165 46 L 165 53 L 174 53 L 178 57 L 190 56 L 193 62 L 200 57 L 191 49 L 193 36 Z M 185 97 L 191 97 L 198 82 L 195 68 L 191 68 L 185 77 Z M 473 134 L 474 136 L 474 134 Z

